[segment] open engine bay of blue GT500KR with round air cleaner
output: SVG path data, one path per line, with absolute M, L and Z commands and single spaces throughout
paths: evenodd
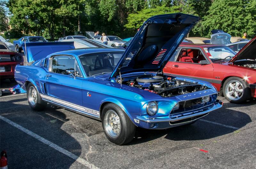
M 208 89 L 197 82 L 192 83 L 172 77 L 152 75 L 125 77 L 122 84 L 156 93 L 162 97 L 172 97 Z

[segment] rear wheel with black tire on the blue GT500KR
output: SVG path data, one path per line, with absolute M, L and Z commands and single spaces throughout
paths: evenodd
M 36 101 L 32 99 L 32 91 L 35 89 L 36 91 Z M 45 107 L 47 106 L 47 103 L 44 102 L 37 91 L 36 87 L 32 84 L 29 83 L 27 87 L 27 98 L 28 98 L 28 104 L 30 105 L 31 109 L 36 110 L 36 111 L 43 111 Z M 32 99 L 32 100 L 31 100 Z

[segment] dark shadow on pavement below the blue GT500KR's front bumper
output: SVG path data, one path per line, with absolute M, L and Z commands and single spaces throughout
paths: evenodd
M 149 130 L 137 127 L 135 137 L 133 141 L 128 145 L 148 142 L 163 137 L 164 135 L 165 139 L 172 141 L 196 141 L 211 139 L 221 135 L 229 134 L 236 131 L 237 128 L 239 130 L 239 128 L 244 127 L 246 124 L 252 122 L 248 114 L 241 111 L 232 110 L 232 108 L 247 107 L 254 104 L 255 101 L 251 101 L 245 104 L 225 103 L 222 108 L 217 111 L 210 112 L 208 116 L 203 118 L 207 121 L 224 124 L 231 127 L 224 127 L 200 120 L 191 125 L 184 125 L 163 130 Z

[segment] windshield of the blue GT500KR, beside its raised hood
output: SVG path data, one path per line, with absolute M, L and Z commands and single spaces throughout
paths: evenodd
M 123 52 L 93 53 L 80 57 L 87 76 L 111 73 Z

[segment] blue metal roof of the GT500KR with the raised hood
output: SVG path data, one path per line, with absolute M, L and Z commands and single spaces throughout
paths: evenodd
M 81 56 L 90 53 L 103 53 L 103 52 L 124 52 L 122 49 L 116 48 L 80 48 L 80 49 L 71 49 L 71 50 L 64 50 L 56 53 L 52 53 L 47 57 L 52 55 L 72 55 L 72 56 Z

